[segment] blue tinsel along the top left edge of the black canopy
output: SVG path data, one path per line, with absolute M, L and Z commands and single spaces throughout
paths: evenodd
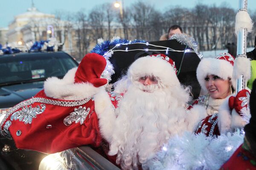
M 129 43 L 130 41 L 129 40 L 125 40 L 125 39 L 115 39 L 115 40 L 112 40 L 112 41 L 104 41 L 100 44 L 96 44 L 95 47 L 93 48 L 92 51 L 90 51 L 90 53 L 97 53 L 99 55 L 104 55 L 109 49 L 109 47 L 111 45 L 116 45 L 116 44 L 127 44 Z M 133 40 L 131 41 L 131 44 L 133 43 L 136 43 L 136 42 L 144 42 L 144 40 Z

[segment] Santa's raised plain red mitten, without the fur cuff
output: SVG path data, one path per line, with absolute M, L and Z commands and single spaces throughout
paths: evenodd
M 106 59 L 101 55 L 86 54 L 77 68 L 75 83 L 90 82 L 94 87 L 107 84 L 107 79 L 100 78 L 106 64 Z

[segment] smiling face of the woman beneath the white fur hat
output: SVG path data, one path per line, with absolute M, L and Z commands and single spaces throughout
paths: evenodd
M 205 77 L 204 81 L 212 99 L 225 99 L 230 94 L 229 80 L 211 74 Z

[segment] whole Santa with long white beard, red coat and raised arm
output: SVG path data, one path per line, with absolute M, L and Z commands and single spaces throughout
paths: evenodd
M 47 79 L 43 91 L 9 111 L 1 134 L 18 148 L 44 153 L 99 147 L 106 140 L 122 169 L 137 169 L 171 136 L 187 130 L 189 92 L 169 57 L 137 59 L 110 94 L 101 77 L 105 67 L 104 57 L 87 54 L 63 79 Z

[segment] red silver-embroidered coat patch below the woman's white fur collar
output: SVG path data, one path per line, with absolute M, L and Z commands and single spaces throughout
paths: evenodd
M 212 135 L 211 136 L 219 136 L 220 135 L 220 131 L 218 129 L 218 116 L 207 116 L 205 119 L 203 119 L 199 125 L 198 125 L 198 129 L 195 131 L 195 133 L 204 133 L 206 136 L 210 135 L 211 129 L 213 129 L 212 131 Z

